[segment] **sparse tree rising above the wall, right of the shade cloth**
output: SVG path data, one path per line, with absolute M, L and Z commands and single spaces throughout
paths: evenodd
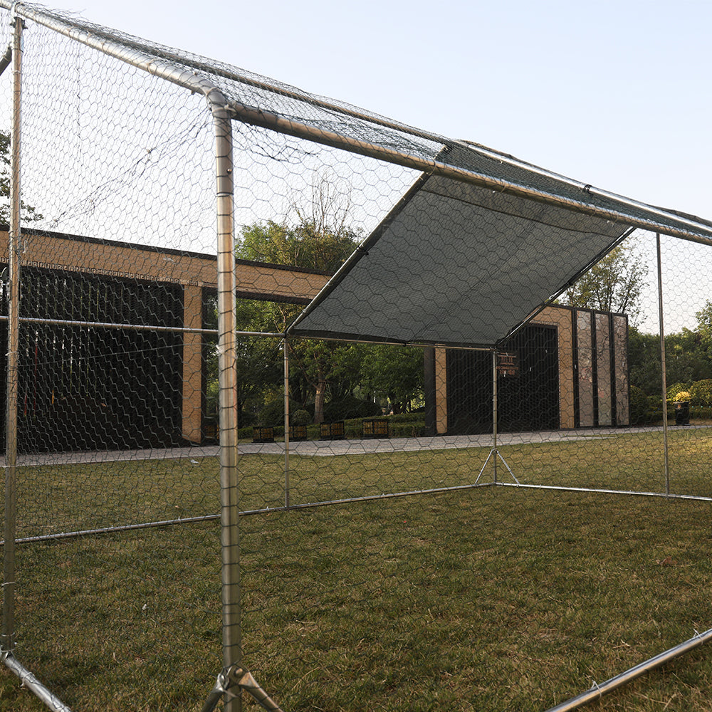
M 640 316 L 640 298 L 648 267 L 634 242 L 610 251 L 561 296 L 561 303 L 583 309 L 627 314 L 632 325 Z

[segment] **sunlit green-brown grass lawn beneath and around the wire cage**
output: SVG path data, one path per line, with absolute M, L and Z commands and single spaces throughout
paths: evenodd
M 673 491 L 711 495 L 706 433 L 671 433 Z M 501 451 L 523 483 L 664 488 L 659 434 Z M 291 494 L 459 486 L 487 454 L 293 456 Z M 243 456 L 241 486 L 243 509 L 281 506 L 281 460 Z M 207 458 L 23 468 L 20 528 L 210 513 L 217 493 Z M 244 664 L 286 711 L 545 710 L 712 627 L 711 506 L 483 487 L 246 515 Z M 200 709 L 221 668 L 216 522 L 17 556 L 16 656 L 75 712 Z M 710 689 L 702 646 L 590 708 L 706 711 Z M 42 708 L 0 675 L 0 710 Z

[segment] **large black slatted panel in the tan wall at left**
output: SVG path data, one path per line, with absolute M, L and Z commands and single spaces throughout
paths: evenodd
M 51 322 L 181 328 L 181 286 L 25 268 L 21 308 L 23 318 L 48 320 L 21 324 L 21 451 L 179 442 L 181 333 Z

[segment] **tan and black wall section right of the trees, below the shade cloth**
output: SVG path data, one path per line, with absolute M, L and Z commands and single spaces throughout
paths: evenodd
M 498 350 L 426 352 L 431 434 L 629 424 L 628 323 L 623 314 L 550 306 Z

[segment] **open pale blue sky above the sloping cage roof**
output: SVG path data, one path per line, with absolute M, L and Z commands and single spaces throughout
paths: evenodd
M 58 7 L 712 219 L 708 1 Z

